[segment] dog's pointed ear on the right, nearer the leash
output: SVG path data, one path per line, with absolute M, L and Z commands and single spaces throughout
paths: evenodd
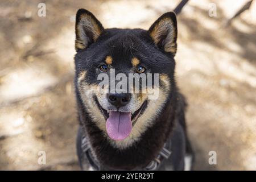
M 177 49 L 177 20 L 173 12 L 160 16 L 148 30 L 156 46 L 175 56 Z

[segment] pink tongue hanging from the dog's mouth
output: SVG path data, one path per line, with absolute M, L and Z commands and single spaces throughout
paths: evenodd
M 110 111 L 106 130 L 114 140 L 123 140 L 131 133 L 131 113 Z

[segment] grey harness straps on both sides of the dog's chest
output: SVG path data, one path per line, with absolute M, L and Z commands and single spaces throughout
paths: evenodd
M 86 157 L 89 160 L 90 165 L 93 167 L 94 170 L 101 170 L 101 165 L 98 162 L 95 155 L 93 155 L 93 152 L 90 148 L 90 144 L 88 139 L 82 135 L 81 138 L 81 150 L 82 153 L 86 155 Z M 164 160 L 167 160 L 170 158 L 171 155 L 171 139 L 168 139 L 166 143 L 164 143 L 164 146 L 162 150 L 159 152 L 159 154 L 156 156 L 154 160 L 152 160 L 146 167 L 142 168 L 143 171 L 155 171 L 158 170 L 161 164 Z

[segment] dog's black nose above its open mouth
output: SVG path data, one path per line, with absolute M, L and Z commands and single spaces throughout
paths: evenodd
M 107 95 L 110 104 L 117 107 L 125 106 L 130 101 L 130 94 L 129 93 L 114 93 Z

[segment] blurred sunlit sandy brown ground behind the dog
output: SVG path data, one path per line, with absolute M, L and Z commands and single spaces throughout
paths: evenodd
M 38 16 L 38 4 L 46 16 Z M 0 1 L 0 169 L 75 170 L 75 14 L 144 28 L 180 1 Z M 177 16 L 176 77 L 188 100 L 196 170 L 256 169 L 256 2 L 188 1 Z M 211 4 L 214 3 L 214 4 Z M 210 9 L 216 5 L 216 16 Z M 210 12 L 210 13 L 209 13 Z M 46 165 L 38 152 L 46 152 Z M 216 151 L 217 164 L 208 163 Z

